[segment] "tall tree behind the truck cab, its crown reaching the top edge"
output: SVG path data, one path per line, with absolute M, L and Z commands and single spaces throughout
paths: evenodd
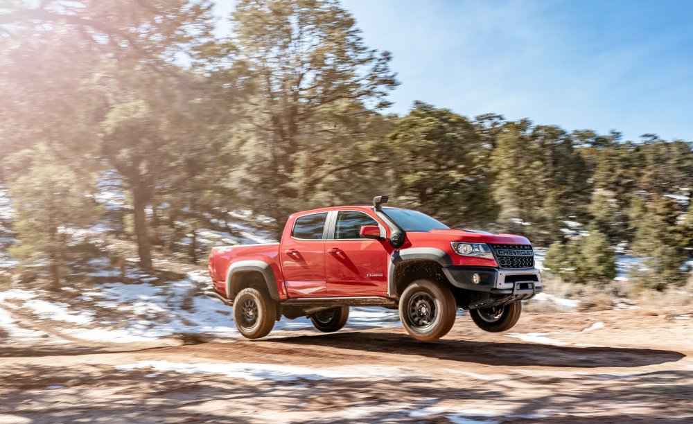
M 241 0 L 231 20 L 231 59 L 249 80 L 247 166 L 238 175 L 247 201 L 279 232 L 297 207 L 317 206 L 322 177 L 380 163 L 358 145 L 371 142 L 362 118 L 388 105 L 396 80 L 389 53 L 367 48 L 337 1 Z

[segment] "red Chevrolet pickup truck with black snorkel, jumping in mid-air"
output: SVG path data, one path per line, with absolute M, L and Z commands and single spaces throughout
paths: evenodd
M 385 202 L 294 213 L 279 243 L 214 247 L 213 290 L 204 294 L 234 306 L 250 339 L 281 317 L 309 317 L 332 332 L 347 323 L 349 306 L 381 306 L 398 308 L 407 332 L 429 341 L 450 331 L 458 309 L 486 331 L 508 330 L 520 301 L 541 292 L 527 238 L 450 229 Z

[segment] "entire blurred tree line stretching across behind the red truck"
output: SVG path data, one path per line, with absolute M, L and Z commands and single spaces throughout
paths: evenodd
M 644 258 L 645 285 L 684 281 L 693 212 L 669 197 L 693 188 L 690 143 L 471 120 L 421 101 L 406 116 L 383 114 L 398 84 L 391 55 L 365 45 L 338 1 L 240 0 L 225 39 L 212 6 L 0 10 L 0 179 L 17 209 L 12 253 L 25 264 L 76 258 L 60 249 L 62 229 L 98 219 L 83 193 L 107 171 L 128 203 L 109 213 L 125 215 L 115 221 L 146 268 L 152 245 L 199 262 L 202 247 L 179 242 L 228 230 L 229 211 L 274 218 L 276 235 L 293 211 L 387 194 L 453 227 L 550 245 L 546 264 L 566 281 L 613 278 L 610 245 L 622 242 Z M 564 240 L 571 221 L 590 222 L 590 236 Z

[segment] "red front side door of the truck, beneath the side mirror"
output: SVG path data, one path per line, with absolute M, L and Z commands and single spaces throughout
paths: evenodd
M 338 211 L 325 243 L 327 294 L 349 297 L 387 292 L 387 240 L 360 238 L 364 225 L 383 225 L 362 211 Z

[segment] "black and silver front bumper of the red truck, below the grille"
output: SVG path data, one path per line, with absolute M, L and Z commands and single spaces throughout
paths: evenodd
M 443 267 L 450 284 L 457 288 L 486 292 L 493 297 L 514 297 L 516 300 L 531 299 L 543 291 L 541 272 L 536 268 L 505 269 L 493 267 L 467 267 L 452 265 Z M 479 274 L 480 282 L 473 282 Z

